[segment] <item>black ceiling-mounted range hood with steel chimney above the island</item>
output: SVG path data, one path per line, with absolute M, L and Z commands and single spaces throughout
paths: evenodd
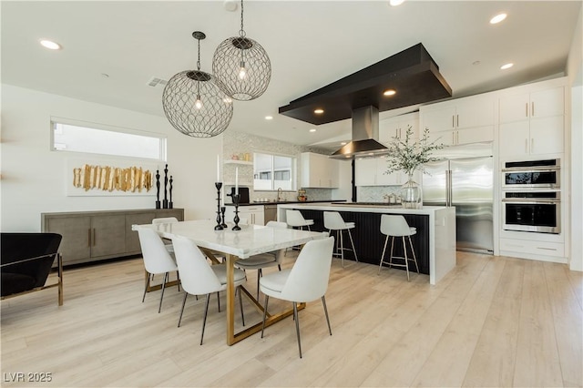
M 394 89 L 396 94 L 385 97 L 384 91 L 387 89 Z M 452 89 L 439 73 L 439 66 L 419 43 L 297 98 L 289 105 L 280 107 L 279 112 L 314 125 L 353 117 L 354 126 L 355 123 L 362 122 L 363 117 L 355 119 L 353 112 L 363 107 L 375 108 L 376 114 L 373 111 L 368 111 L 367 114 L 372 120 L 376 120 L 376 131 L 373 128 L 364 131 L 367 133 L 365 138 L 363 130 L 353 127 L 353 141 L 336 151 L 333 156 L 351 158 L 386 151 L 376 141 L 379 111 L 409 107 L 451 96 Z M 314 113 L 317 108 L 324 112 Z

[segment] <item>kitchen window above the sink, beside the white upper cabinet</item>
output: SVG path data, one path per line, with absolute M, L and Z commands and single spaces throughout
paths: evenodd
M 253 189 L 295 190 L 295 158 L 254 153 L 253 160 Z

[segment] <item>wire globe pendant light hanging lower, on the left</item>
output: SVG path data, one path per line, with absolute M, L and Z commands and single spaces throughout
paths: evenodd
M 179 132 L 193 138 L 212 138 L 229 127 L 233 103 L 217 79 L 200 70 L 200 40 L 205 34 L 195 31 L 192 36 L 199 45 L 197 69 L 181 71 L 169 79 L 162 93 L 162 107 Z

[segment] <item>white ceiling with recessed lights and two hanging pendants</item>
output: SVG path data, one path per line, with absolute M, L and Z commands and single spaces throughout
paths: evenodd
M 581 3 L 247 0 L 245 31 L 268 52 L 272 77 L 263 96 L 235 101 L 227 130 L 304 145 L 349 138 L 350 120 L 310 133 L 312 125 L 279 115 L 278 107 L 417 43 L 433 56 L 454 97 L 556 76 L 565 70 Z M 159 116 L 163 88 L 148 80 L 196 68 L 191 33 L 207 35 L 201 69 L 210 72 L 215 48 L 240 30 L 239 6 L 230 12 L 223 1 L 1 5 L 3 83 Z M 506 21 L 491 26 L 499 12 L 508 14 Z M 40 38 L 63 49 L 48 51 Z M 501 71 L 507 62 L 515 66 Z

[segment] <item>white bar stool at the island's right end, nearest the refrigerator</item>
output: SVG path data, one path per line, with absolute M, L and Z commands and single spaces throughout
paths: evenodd
M 414 227 L 410 227 L 407 224 L 407 221 L 404 220 L 403 216 L 390 216 L 388 214 L 383 214 L 381 216 L 381 233 L 386 235 L 386 239 L 384 239 L 384 248 L 383 248 L 383 256 L 381 256 L 381 262 L 379 264 L 379 271 L 378 274 L 381 273 L 381 268 L 383 267 L 384 261 L 384 252 L 386 250 L 386 244 L 389 240 L 389 236 L 392 237 L 391 239 L 391 256 L 388 261 L 389 268 L 391 266 L 394 267 L 404 267 L 405 271 L 407 271 L 407 281 L 409 279 L 409 260 L 414 261 L 415 268 L 417 269 L 417 273 L 419 273 L 419 267 L 417 266 L 417 258 L 415 257 L 415 251 L 413 249 L 413 241 L 411 241 L 411 236 L 417 233 L 417 229 Z M 404 250 L 404 257 L 400 256 L 393 256 L 393 249 L 394 249 L 394 238 L 401 237 L 403 239 L 403 250 Z M 407 256 L 407 244 L 405 243 L 404 238 L 407 237 L 409 239 L 409 246 L 411 247 L 411 251 L 413 252 L 413 259 Z M 404 264 L 394 264 L 393 258 L 395 259 L 403 259 Z

